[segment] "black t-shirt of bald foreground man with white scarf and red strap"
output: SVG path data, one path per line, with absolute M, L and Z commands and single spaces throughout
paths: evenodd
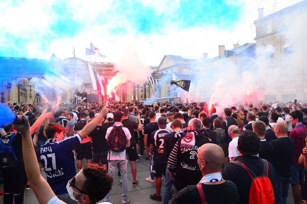
M 239 194 L 237 186 L 230 180 L 225 180 L 221 184 L 201 184 L 205 193 L 206 200 L 209 204 L 237 204 L 239 202 Z M 188 185 L 180 190 L 172 204 L 202 204 L 200 194 L 196 185 Z

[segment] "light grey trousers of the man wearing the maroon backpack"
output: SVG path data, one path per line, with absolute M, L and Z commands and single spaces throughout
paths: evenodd
M 121 199 L 126 201 L 128 199 L 127 160 L 109 160 L 108 164 L 109 164 L 109 174 L 112 177 L 114 177 L 115 171 L 117 169 L 117 164 L 118 164 L 118 170 L 120 171 L 121 182 L 122 182 Z M 105 198 L 104 198 L 105 202 L 108 202 L 110 200 L 111 190 L 105 196 Z

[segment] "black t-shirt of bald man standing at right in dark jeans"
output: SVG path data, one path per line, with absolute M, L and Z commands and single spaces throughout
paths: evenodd
M 291 176 L 291 164 L 295 151 L 293 139 L 281 137 L 270 142 L 273 146 L 274 162 L 272 163 L 279 177 Z

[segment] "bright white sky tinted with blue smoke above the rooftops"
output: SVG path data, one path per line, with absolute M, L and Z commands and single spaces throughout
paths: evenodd
M 264 15 L 299 0 L 7 0 L 0 3 L 0 56 L 85 58 L 90 42 L 118 62 L 137 56 L 158 66 L 164 55 L 209 58 L 218 46 L 254 42 L 258 8 Z M 94 56 L 86 60 L 94 61 Z

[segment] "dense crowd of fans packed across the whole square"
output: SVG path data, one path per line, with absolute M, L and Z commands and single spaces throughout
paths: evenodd
M 0 129 L 5 204 L 25 188 L 44 204 L 110 203 L 117 169 L 129 203 L 127 165 L 136 186 L 140 157 L 163 203 L 286 203 L 290 184 L 307 203 L 307 104 L 7 105 L 23 123 Z

